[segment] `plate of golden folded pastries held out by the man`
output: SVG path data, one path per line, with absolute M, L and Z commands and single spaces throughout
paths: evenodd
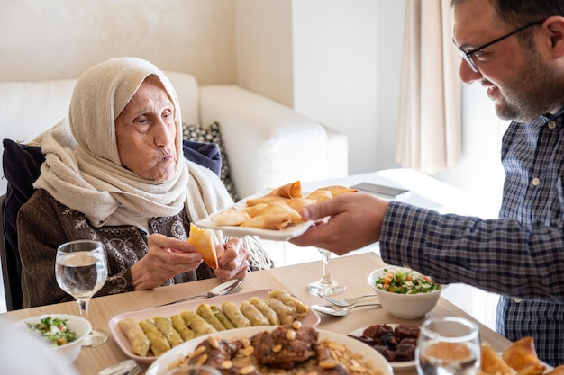
M 253 194 L 233 206 L 196 222 L 198 228 L 222 230 L 232 237 L 257 236 L 286 241 L 305 233 L 314 221 L 304 220 L 300 210 L 306 205 L 331 199 L 358 189 L 340 185 L 303 192 L 300 181 Z

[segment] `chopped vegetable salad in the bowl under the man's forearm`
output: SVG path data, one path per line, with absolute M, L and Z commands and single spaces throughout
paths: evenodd
M 391 271 L 384 269 L 384 276 L 375 281 L 376 288 L 397 294 L 419 294 L 428 293 L 433 290 L 441 290 L 441 285 L 437 284 L 429 276 L 424 276 L 419 272 L 409 270 Z

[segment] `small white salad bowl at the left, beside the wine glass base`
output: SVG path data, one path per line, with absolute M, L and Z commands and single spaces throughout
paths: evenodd
M 27 323 L 30 323 L 32 325 L 37 324 L 44 317 L 51 317 L 53 319 L 59 317 L 59 319 L 66 319 L 68 329 L 77 333 L 77 339 L 68 344 L 64 344 L 60 346 L 50 346 L 48 343 L 45 342 L 45 346 L 49 351 L 52 351 L 54 353 L 60 353 L 61 357 L 66 358 L 68 360 L 68 363 L 75 362 L 75 360 L 78 357 L 78 354 L 80 353 L 80 348 L 82 347 L 82 341 L 84 340 L 86 335 L 88 335 L 92 330 L 92 326 L 90 325 L 90 322 L 88 322 L 85 318 L 78 317 L 76 315 L 44 314 L 37 317 L 26 317 L 25 319 L 16 322 L 15 326 L 18 329 L 21 329 L 24 332 L 28 332 L 30 333 L 30 335 L 35 336 L 38 340 L 42 340 L 41 337 L 32 333 L 29 326 L 27 326 Z

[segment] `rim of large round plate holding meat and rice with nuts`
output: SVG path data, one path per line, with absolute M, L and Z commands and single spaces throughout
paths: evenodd
M 212 334 L 213 336 L 222 338 L 222 339 L 234 339 L 234 338 L 242 338 L 242 337 L 250 337 L 252 335 L 256 335 L 263 330 L 272 330 L 276 327 L 274 326 L 253 326 L 249 328 L 239 328 L 239 329 L 232 329 L 230 331 L 223 331 L 220 333 Z M 386 361 L 386 359 L 377 351 L 370 348 L 367 344 L 360 343 L 359 340 L 356 340 L 351 337 L 347 337 L 346 335 L 335 334 L 333 332 L 324 331 L 323 329 L 319 329 L 319 338 L 328 338 L 332 341 L 335 341 L 339 344 L 345 345 L 350 351 L 354 353 L 362 354 L 364 359 L 370 362 L 373 366 L 378 368 L 381 375 L 393 375 L 392 368 L 390 364 Z M 188 353 L 194 351 L 196 346 L 200 344 L 208 335 L 198 337 L 196 339 L 187 341 L 184 344 L 180 344 L 175 346 L 167 353 L 164 353 L 159 357 L 159 359 L 153 362 L 149 369 L 146 372 L 146 375 L 163 375 L 167 370 L 168 366 L 177 361 L 178 359 L 185 357 Z

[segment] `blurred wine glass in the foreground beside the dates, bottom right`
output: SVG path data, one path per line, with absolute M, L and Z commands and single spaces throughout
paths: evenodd
M 420 375 L 476 375 L 481 357 L 475 323 L 462 317 L 432 317 L 423 322 L 415 350 Z

